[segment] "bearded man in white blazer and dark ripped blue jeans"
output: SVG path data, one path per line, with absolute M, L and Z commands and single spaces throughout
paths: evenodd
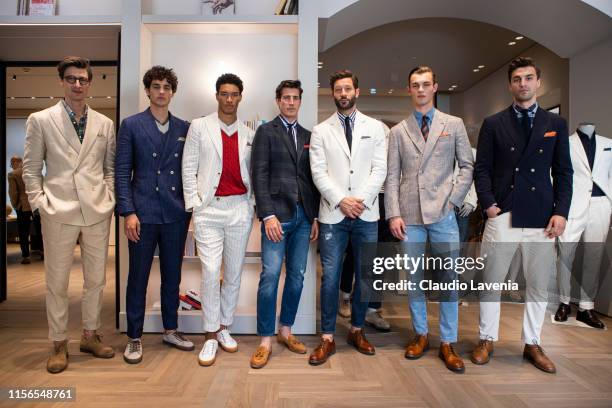
M 338 71 L 330 79 L 338 111 L 315 126 L 310 139 L 312 178 L 321 193 L 319 249 L 321 280 L 321 343 L 310 355 L 312 365 L 323 364 L 334 354 L 334 331 L 344 251 L 353 245 L 354 301 L 347 342 L 363 354 L 375 353 L 363 334 L 367 296 L 360 285 L 362 244 L 378 238 L 378 193 L 387 175 L 388 129 L 357 110 L 357 77 Z

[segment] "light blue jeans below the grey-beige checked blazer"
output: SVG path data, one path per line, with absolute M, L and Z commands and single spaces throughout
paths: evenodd
M 459 254 L 459 229 L 454 211 L 449 211 L 444 218 L 433 224 L 407 225 L 406 236 L 402 247 L 411 257 L 425 256 L 426 242 L 431 243 L 432 255 L 456 258 Z M 453 270 L 441 270 L 440 282 L 452 282 L 457 278 Z M 423 268 L 417 268 L 410 280 L 416 282 L 416 290 L 410 291 L 409 305 L 412 316 L 412 327 L 417 334 L 425 335 L 427 327 L 427 305 L 425 296 L 419 288 L 423 280 Z M 457 291 L 444 291 L 440 301 L 440 341 L 454 343 L 457 341 Z

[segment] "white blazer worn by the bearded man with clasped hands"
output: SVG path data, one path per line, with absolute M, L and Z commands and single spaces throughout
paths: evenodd
M 387 176 L 388 132 L 382 122 L 358 111 L 349 150 L 337 113 L 314 127 L 310 137 L 310 170 L 321 193 L 319 221 L 325 224 L 342 221 L 344 214 L 339 204 L 349 196 L 364 200 L 366 209 L 359 218 L 378 220 L 378 193 Z

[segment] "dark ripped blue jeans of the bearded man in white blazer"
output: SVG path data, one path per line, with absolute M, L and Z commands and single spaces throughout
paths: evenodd
M 321 332 L 333 334 L 338 313 L 338 290 L 342 261 L 349 239 L 353 245 L 355 287 L 351 310 L 351 324 L 361 328 L 365 322 L 368 296 L 361 294 L 361 252 L 363 243 L 375 243 L 378 239 L 378 223 L 361 219 L 344 218 L 337 224 L 320 224 L 319 250 L 321 252 Z

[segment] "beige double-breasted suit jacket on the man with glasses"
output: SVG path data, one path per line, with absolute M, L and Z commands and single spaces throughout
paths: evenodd
M 28 118 L 23 181 L 32 208 L 43 216 L 82 226 L 110 217 L 114 167 L 115 130 L 106 116 L 88 108 L 83 144 L 61 101 Z

